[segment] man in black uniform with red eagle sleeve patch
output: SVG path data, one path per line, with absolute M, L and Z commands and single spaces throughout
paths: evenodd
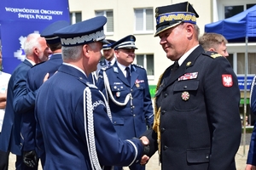
M 155 94 L 154 130 L 144 133 L 162 170 L 235 170 L 241 141 L 240 90 L 229 61 L 199 45 L 190 3 L 155 9 L 156 33 L 174 61 Z

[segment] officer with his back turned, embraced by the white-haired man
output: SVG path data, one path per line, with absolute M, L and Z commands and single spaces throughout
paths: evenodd
M 54 32 L 69 26 L 66 20 L 58 20 L 49 26 L 47 26 L 41 33 L 41 37 L 44 37 L 48 47 L 52 51 L 52 55 L 49 60 L 42 62 L 38 65 L 34 65 L 31 70 L 27 72 L 26 78 L 26 90 L 28 93 L 32 93 L 33 99 L 36 99 L 38 88 L 44 83 L 45 79 L 52 77 L 58 70 L 63 60 L 61 58 L 61 39 L 54 35 Z M 46 75 L 48 74 L 48 75 Z M 45 78 L 44 78 L 45 77 Z M 34 116 L 34 105 L 29 108 L 22 116 L 21 133 L 24 138 L 23 151 L 25 152 L 25 163 L 28 166 L 33 167 L 36 165 L 34 156 L 40 157 L 41 165 L 44 167 L 44 145 L 36 146 L 35 132 L 36 132 L 36 120 Z M 43 140 L 43 138 L 38 138 Z M 40 142 L 42 144 L 42 142 Z M 40 150 L 38 150 L 40 148 Z

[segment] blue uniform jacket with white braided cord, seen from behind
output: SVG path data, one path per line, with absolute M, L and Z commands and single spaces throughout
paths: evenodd
M 140 160 L 142 142 L 119 139 L 104 100 L 82 71 L 65 64 L 38 89 L 35 116 L 44 137 L 45 170 L 90 170 L 97 160 L 105 166 Z M 91 133 L 94 138 L 88 139 Z

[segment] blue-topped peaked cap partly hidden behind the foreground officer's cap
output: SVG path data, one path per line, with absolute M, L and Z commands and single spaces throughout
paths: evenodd
M 57 37 L 54 33 L 66 26 L 69 26 L 69 23 L 66 20 L 58 20 L 44 28 L 44 31 L 42 31 L 40 35 L 41 37 L 44 37 L 49 44 L 61 42 L 61 38 Z

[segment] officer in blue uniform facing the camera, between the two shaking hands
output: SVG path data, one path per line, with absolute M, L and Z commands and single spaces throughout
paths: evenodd
M 113 66 L 102 68 L 97 82 L 108 99 L 113 126 L 121 139 L 139 137 L 147 130 L 147 125 L 151 127 L 154 122 L 146 70 L 131 65 L 137 49 L 135 41 L 130 35 L 112 44 L 117 61 Z M 144 168 L 136 164 L 130 167 L 132 170 Z

